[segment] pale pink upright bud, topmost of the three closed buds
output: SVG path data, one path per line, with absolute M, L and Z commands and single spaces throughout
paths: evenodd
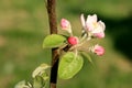
M 61 26 L 62 26 L 62 30 L 65 30 L 65 31 L 72 33 L 72 26 L 70 26 L 70 22 L 68 20 L 62 19 Z

